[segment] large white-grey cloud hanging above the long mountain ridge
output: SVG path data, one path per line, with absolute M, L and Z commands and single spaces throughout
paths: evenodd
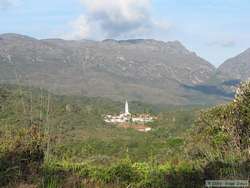
M 70 23 L 77 38 L 122 38 L 169 28 L 151 15 L 151 0 L 80 0 L 85 13 Z

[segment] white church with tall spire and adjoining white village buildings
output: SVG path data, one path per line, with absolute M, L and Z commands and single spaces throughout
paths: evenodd
M 125 109 L 124 113 L 119 115 L 106 115 L 104 117 L 104 121 L 106 123 L 115 123 L 115 124 L 122 124 L 122 123 L 149 123 L 154 121 L 154 117 L 150 116 L 149 114 L 140 114 L 140 115 L 132 115 L 129 112 L 128 101 L 125 102 Z

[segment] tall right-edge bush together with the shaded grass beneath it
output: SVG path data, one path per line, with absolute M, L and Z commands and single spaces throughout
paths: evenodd
M 250 82 L 241 84 L 233 102 L 202 112 L 194 134 L 188 153 L 203 161 L 206 179 L 248 178 Z

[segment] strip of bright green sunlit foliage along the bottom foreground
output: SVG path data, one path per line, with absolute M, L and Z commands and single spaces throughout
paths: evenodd
M 86 164 L 53 162 L 44 168 L 44 179 L 66 184 L 66 177 L 74 177 L 75 182 L 88 185 L 95 182 L 102 187 L 138 187 L 138 188 L 165 188 L 165 187 L 202 187 L 204 184 L 203 172 L 189 162 L 179 163 L 177 166 L 169 164 L 153 165 L 149 163 L 133 163 L 125 159 L 110 167 L 93 167 Z M 77 178 L 78 177 L 78 178 Z M 80 178 L 80 180 L 79 180 Z

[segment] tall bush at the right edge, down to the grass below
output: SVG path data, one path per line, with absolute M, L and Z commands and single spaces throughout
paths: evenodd
M 196 128 L 193 143 L 206 152 L 208 160 L 246 159 L 250 151 L 250 82 L 239 87 L 232 103 L 202 112 Z

